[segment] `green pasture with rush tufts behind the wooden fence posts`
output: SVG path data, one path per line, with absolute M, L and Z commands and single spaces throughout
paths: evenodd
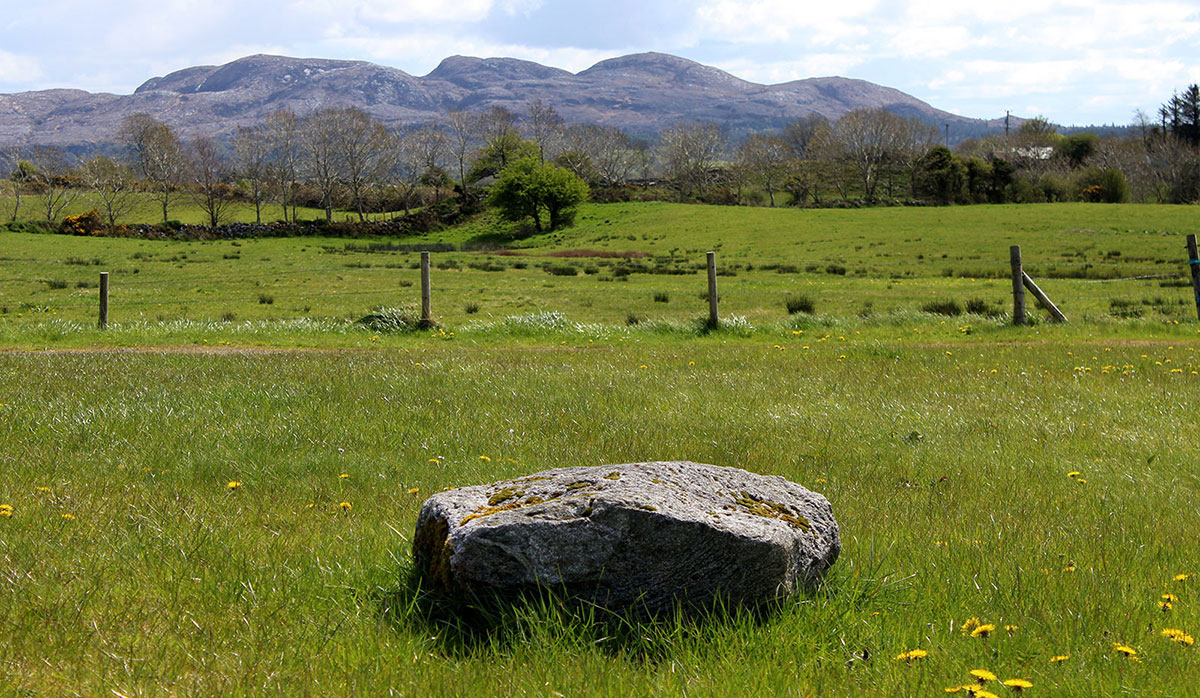
M 1026 267 L 1072 319 L 1174 321 L 1193 313 L 1183 236 L 1198 230 L 1194 206 L 845 211 L 593 204 L 582 209 L 576 228 L 553 234 L 511 239 L 509 227 L 484 218 L 398 242 L 511 248 L 433 254 L 433 306 L 448 327 L 539 312 L 607 325 L 694 319 L 707 307 L 708 249 L 730 275 L 720 279 L 722 313 L 755 325 L 786 320 L 785 299 L 796 295 L 833 318 L 919 314 L 930 302 L 962 307 L 972 300 L 998 314 L 1010 308 L 1013 243 L 1022 246 Z M 92 321 L 101 270 L 112 273 L 118 324 L 341 321 L 378 305 L 415 303 L 419 255 L 347 251 L 366 243 L 0 233 L 0 311 L 6 311 L 0 323 L 11 331 L 48 318 Z M 632 257 L 612 257 L 625 253 Z M 547 264 L 577 275 L 554 276 Z M 622 267 L 632 273 L 622 276 Z

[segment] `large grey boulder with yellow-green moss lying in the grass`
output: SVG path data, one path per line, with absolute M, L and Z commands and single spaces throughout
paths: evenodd
M 421 507 L 413 541 L 419 572 L 443 592 L 550 588 L 650 612 L 812 586 L 840 549 L 824 497 L 689 462 L 559 468 L 442 492 Z

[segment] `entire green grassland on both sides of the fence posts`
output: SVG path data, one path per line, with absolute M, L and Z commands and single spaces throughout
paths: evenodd
M 434 270 L 444 331 L 409 335 L 350 320 L 415 300 L 413 254 L 0 233 L 0 693 L 923 696 L 988 669 L 1034 696 L 1188 694 L 1200 649 L 1163 631 L 1200 630 L 1190 289 L 1049 279 L 1073 323 L 1027 329 L 919 305 L 1007 307 L 1003 279 L 943 266 L 1003 272 L 1014 241 L 1031 266 L 1182 276 L 1196 224 L 1156 206 L 588 206 L 577 230 L 492 254 L 504 271 L 437 253 L 463 267 Z M 1087 261 L 1066 254 L 1085 240 Z M 742 265 L 722 308 L 748 319 L 708 333 L 689 324 L 698 272 L 535 267 L 718 243 Z M 101 269 L 107 332 L 77 285 Z M 816 314 L 788 318 L 788 293 Z M 414 590 L 427 494 L 674 458 L 826 494 L 844 543 L 827 584 L 762 616 L 622 625 L 532 602 L 474 630 Z

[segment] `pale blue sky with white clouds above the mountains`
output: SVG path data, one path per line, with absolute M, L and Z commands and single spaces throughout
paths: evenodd
M 1200 83 L 1200 0 L 0 0 L 0 92 L 132 92 L 256 53 L 412 74 L 461 54 L 582 71 L 670 53 L 757 83 L 844 76 L 1063 125 Z

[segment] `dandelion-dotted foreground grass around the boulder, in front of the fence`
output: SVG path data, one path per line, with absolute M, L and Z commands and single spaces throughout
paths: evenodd
M 1091 697 L 1200 672 L 1162 634 L 1200 630 L 1200 577 L 1174 580 L 1200 572 L 1200 343 L 542 339 L 0 355 L 0 685 L 922 696 L 988 669 Z M 828 583 L 757 618 L 534 602 L 470 630 L 407 577 L 428 493 L 665 458 L 828 495 Z

